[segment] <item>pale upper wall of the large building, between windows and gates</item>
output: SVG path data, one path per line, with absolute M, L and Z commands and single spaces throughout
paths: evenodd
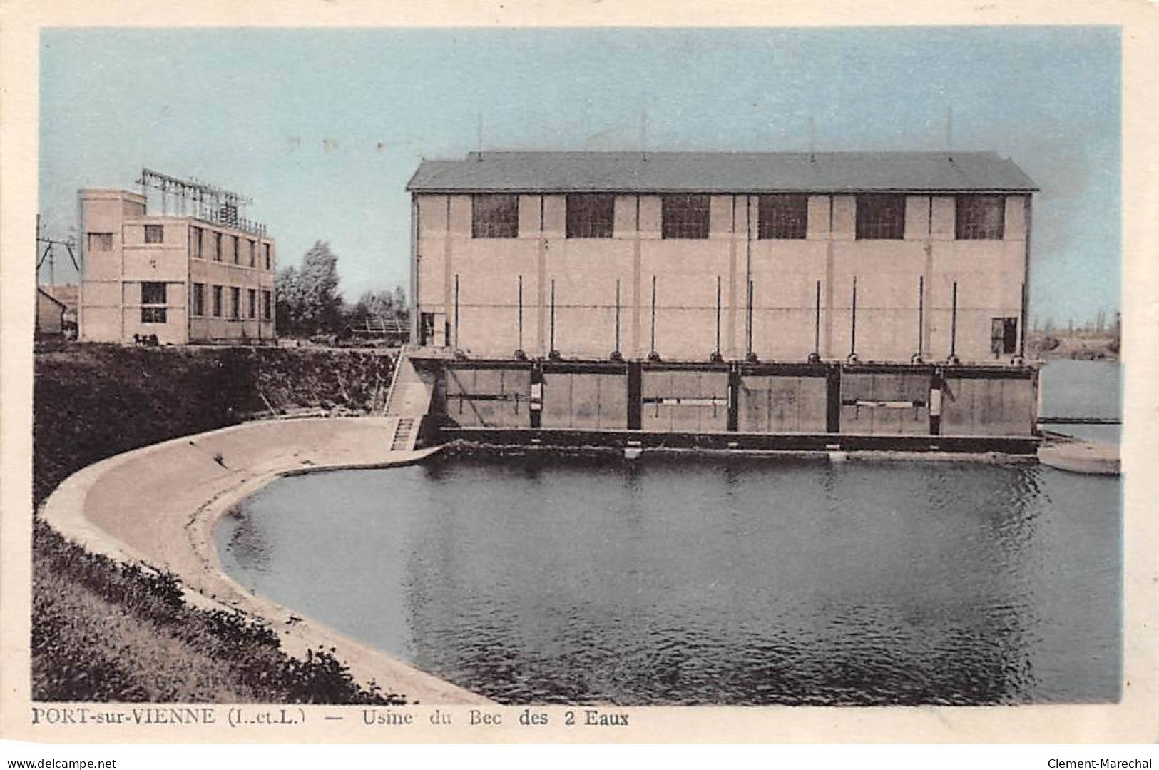
M 655 349 L 705 361 L 716 349 L 719 285 L 721 353 L 735 359 L 748 351 L 751 279 L 752 350 L 761 359 L 804 359 L 816 340 L 826 359 L 854 351 L 862 361 L 907 362 L 919 344 L 930 359 L 949 355 L 956 282 L 955 353 L 1008 362 L 991 353 L 991 319 L 1021 315 L 1029 197 L 1007 196 L 1001 240 L 956 240 L 954 206 L 953 196 L 907 196 L 904 239 L 857 240 L 855 197 L 812 195 L 807 238 L 760 240 L 756 196 L 714 195 L 707 239 L 666 240 L 659 196 L 618 195 L 612 238 L 568 239 L 566 196 L 522 195 L 517 238 L 474 239 L 472 196 L 416 195 L 417 311 L 435 315 L 435 344 L 475 356 L 517 348 L 546 356 L 554 326 L 564 356 L 606 357 L 617 348 L 619 282 L 619 349 L 639 358 L 654 344 L 655 277 Z

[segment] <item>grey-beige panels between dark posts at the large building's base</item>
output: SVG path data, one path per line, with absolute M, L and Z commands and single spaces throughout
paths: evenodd
M 1033 366 L 435 362 L 432 411 L 467 428 L 1032 436 Z M 542 408 L 532 405 L 542 383 Z M 941 393 L 941 409 L 931 413 Z M 730 394 L 731 392 L 731 394 Z M 635 405 L 632 401 L 635 400 Z M 730 405 L 735 401 L 735 423 Z M 735 424 L 735 427 L 734 427 Z

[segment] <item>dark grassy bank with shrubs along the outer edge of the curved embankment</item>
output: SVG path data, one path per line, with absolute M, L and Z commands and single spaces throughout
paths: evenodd
M 258 414 L 372 411 L 392 365 L 311 349 L 72 344 L 37 354 L 34 501 L 105 457 Z M 172 576 L 88 553 L 41 522 L 32 555 L 37 700 L 402 702 L 360 687 L 326 651 L 290 658 L 261 624 L 191 608 Z

